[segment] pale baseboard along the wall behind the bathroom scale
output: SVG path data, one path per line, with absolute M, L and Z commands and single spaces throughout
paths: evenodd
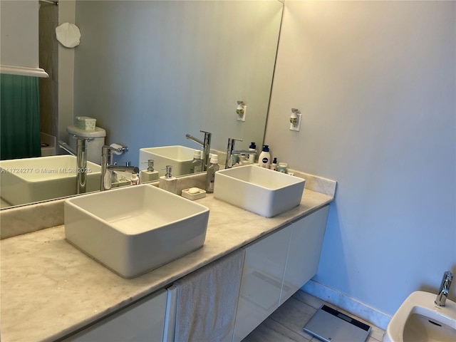
M 301 290 L 318 299 L 326 301 L 337 308 L 345 310 L 364 321 L 368 321 L 383 330 L 386 330 L 386 327 L 390 322 L 391 316 L 312 279 L 307 281 L 307 283 L 301 287 Z

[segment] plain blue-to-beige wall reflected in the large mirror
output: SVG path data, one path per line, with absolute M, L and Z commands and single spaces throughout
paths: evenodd
M 132 165 L 144 147 L 199 149 L 185 135 L 202 140 L 200 130 L 212 133 L 212 150 L 224 151 L 228 138 L 261 147 L 282 9 L 277 0 L 76 0 L 73 92 L 59 96 L 71 119 L 60 110 L 49 130 L 66 140 L 56 121 L 95 118 L 108 145 L 129 147 L 115 161 Z M 239 100 L 245 121 L 237 120 Z

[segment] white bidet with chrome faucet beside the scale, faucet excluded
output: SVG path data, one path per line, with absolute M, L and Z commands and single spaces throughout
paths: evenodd
M 391 318 L 383 342 L 456 341 L 456 303 L 434 304 L 435 294 L 415 291 Z

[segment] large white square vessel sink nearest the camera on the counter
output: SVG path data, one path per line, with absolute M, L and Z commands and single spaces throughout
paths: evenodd
M 152 185 L 65 202 L 67 241 L 124 278 L 202 247 L 208 219 L 207 207 Z

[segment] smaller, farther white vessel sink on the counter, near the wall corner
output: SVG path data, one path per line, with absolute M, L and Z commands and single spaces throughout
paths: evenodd
M 305 180 L 244 165 L 215 173 L 214 197 L 264 217 L 274 217 L 301 202 Z

